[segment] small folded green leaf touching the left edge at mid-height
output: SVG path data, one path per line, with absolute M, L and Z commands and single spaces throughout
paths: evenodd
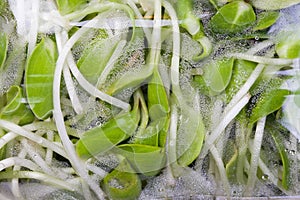
M 23 101 L 22 88 L 12 86 L 6 94 L 6 106 L 0 111 L 0 119 L 12 121 L 24 125 L 34 120 L 33 113 L 26 107 Z

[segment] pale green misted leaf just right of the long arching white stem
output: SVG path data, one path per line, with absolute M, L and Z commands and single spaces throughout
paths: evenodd
M 118 37 L 104 39 L 105 37 L 106 34 L 101 35 L 87 47 L 77 63 L 80 72 L 94 85 L 120 42 Z

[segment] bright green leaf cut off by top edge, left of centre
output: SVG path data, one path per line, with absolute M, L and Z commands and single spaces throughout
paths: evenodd
M 58 10 L 62 15 L 79 10 L 88 3 L 88 0 L 56 0 Z

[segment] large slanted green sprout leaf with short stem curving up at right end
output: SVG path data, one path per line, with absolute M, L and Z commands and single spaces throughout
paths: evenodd
M 86 131 L 76 144 L 77 154 L 88 159 L 103 154 L 120 142 L 132 136 L 140 121 L 137 93 L 134 95 L 134 108 L 110 119 L 103 126 Z

